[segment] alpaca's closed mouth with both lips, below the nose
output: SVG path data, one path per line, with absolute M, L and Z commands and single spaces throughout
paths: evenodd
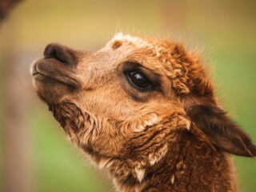
M 50 65 L 51 59 L 41 59 L 31 67 L 31 74 L 35 81 L 46 83 L 61 83 L 74 89 L 81 88 L 78 81 L 71 77 L 69 70 L 58 69 L 58 65 Z

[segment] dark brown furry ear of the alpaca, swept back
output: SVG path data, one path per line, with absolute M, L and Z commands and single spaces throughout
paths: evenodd
M 214 104 L 189 106 L 186 108 L 186 114 L 219 149 L 230 154 L 256 157 L 256 147 L 249 136 L 218 106 Z

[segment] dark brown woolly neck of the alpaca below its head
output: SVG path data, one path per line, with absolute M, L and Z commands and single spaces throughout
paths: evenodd
M 175 132 L 165 153 L 159 152 L 160 146 L 154 150 L 163 154 L 161 159 L 113 159 L 109 170 L 118 191 L 238 191 L 229 154 L 214 150 L 188 130 Z

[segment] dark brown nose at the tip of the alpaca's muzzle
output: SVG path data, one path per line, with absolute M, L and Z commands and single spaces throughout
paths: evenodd
M 47 45 L 43 55 L 44 58 L 54 58 L 68 66 L 75 66 L 77 63 L 74 50 L 71 50 L 69 47 L 62 46 L 58 43 L 50 43 Z

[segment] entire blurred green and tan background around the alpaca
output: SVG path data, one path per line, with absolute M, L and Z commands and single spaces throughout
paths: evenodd
M 98 50 L 117 31 L 139 31 L 204 47 L 222 105 L 256 143 L 255 7 L 235 0 L 18 4 L 0 26 L 0 191 L 114 191 L 106 174 L 66 141 L 32 90 L 30 63 L 49 42 Z M 256 191 L 256 159 L 234 162 L 242 190 Z

